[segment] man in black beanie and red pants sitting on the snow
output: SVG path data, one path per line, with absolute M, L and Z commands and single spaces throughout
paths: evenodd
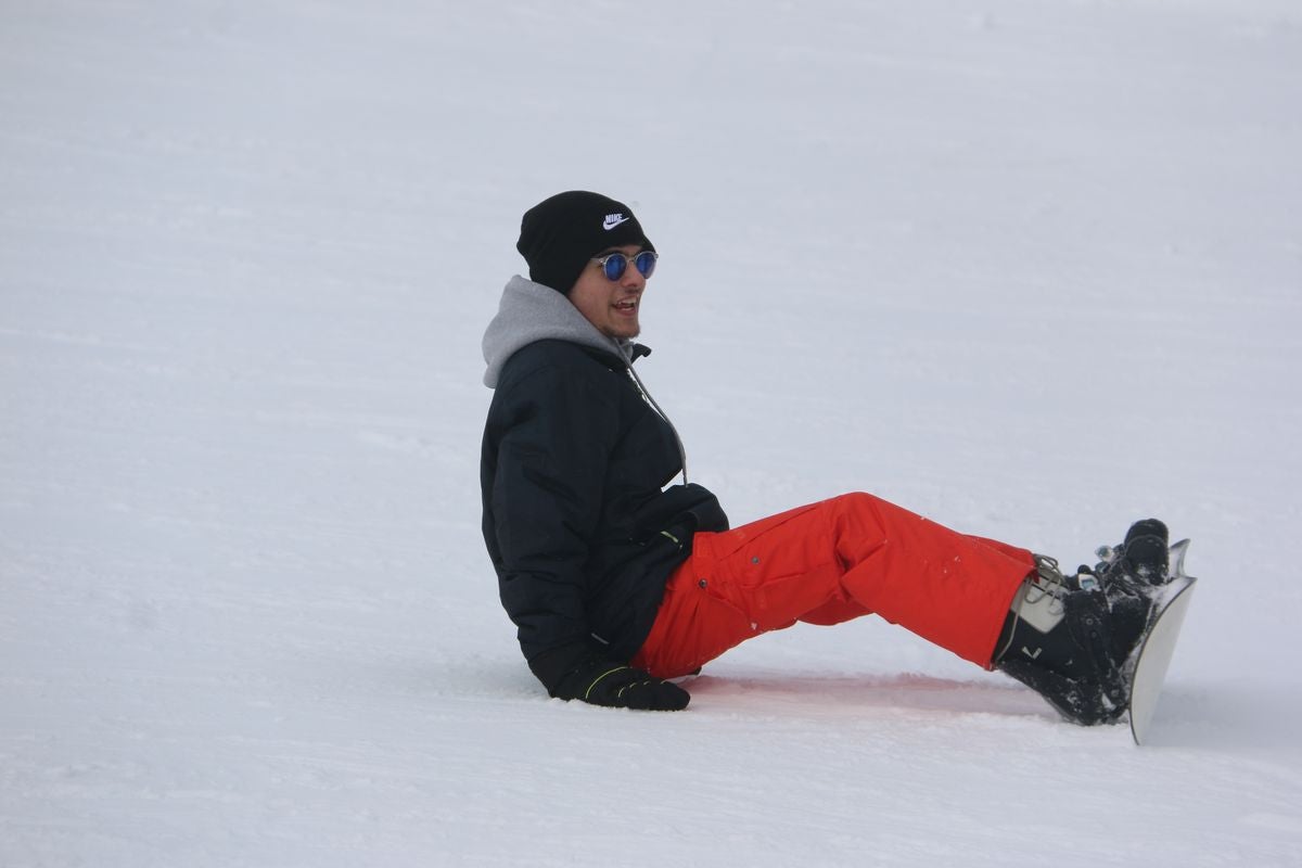
M 850 493 L 729 530 L 633 368 L 658 254 L 631 210 L 570 191 L 530 208 L 483 338 L 480 458 L 501 603 L 547 691 L 680 711 L 686 675 L 797 621 L 875 613 L 1022 681 L 1079 724 L 1125 709 L 1167 528 L 1135 523 L 1104 569 L 954 532 Z M 682 481 L 674 476 L 682 474 Z

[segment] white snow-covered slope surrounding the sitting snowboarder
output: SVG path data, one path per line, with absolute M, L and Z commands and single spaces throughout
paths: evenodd
M 1299 109 L 1282 0 L 5 3 L 0 864 L 1302 864 Z M 872 618 L 547 700 L 479 337 L 570 187 L 734 522 L 1194 537 L 1154 746 Z

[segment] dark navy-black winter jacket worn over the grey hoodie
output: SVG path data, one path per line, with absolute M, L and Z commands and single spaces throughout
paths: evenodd
M 669 484 L 681 468 L 673 428 L 615 351 L 540 340 L 500 367 L 480 457 L 483 535 L 548 690 L 594 655 L 637 653 L 691 534 L 727 530 L 707 489 Z

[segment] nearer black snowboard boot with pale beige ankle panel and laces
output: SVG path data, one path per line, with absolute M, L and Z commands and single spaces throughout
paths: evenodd
M 1074 724 L 1116 722 L 1126 708 L 1122 673 L 1133 640 L 1126 647 L 1125 636 L 1113 635 L 1112 612 L 1098 576 L 1065 576 L 1057 561 L 1042 554 L 1035 556 L 1035 566 L 1013 597 L 995 666 Z

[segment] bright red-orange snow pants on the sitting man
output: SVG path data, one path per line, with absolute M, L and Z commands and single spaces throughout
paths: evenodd
M 1013 593 L 1034 570 L 1026 549 L 842 495 L 697 534 L 633 665 L 674 678 L 797 621 L 875 613 L 988 669 Z

